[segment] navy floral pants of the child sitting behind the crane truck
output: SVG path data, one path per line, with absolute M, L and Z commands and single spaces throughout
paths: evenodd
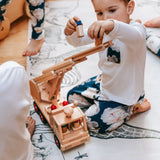
M 70 103 L 78 101 L 78 105 L 85 111 L 88 129 L 96 133 L 112 131 L 129 120 L 133 114 L 134 105 L 126 106 L 111 100 L 104 100 L 100 96 L 99 76 L 90 78 L 71 89 L 67 94 Z M 141 96 L 137 103 L 142 103 Z M 136 105 L 136 104 L 135 104 Z

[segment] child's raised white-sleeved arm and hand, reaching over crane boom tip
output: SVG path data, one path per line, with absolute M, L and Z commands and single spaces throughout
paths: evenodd
M 136 23 L 129 25 L 116 20 L 96 21 L 88 29 L 88 36 L 92 39 L 102 38 L 107 34 L 108 40 L 120 39 L 127 45 L 145 39 L 145 28 Z

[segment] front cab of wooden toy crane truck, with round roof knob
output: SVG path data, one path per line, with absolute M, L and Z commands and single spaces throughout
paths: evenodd
M 55 110 L 48 106 L 46 110 L 55 133 L 55 143 L 62 151 L 89 141 L 85 115 L 75 104 L 59 105 Z

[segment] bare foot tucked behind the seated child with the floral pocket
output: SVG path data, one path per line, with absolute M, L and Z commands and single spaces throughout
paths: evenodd
M 145 98 L 143 100 L 142 104 L 137 104 L 134 106 L 133 109 L 133 115 L 135 115 L 136 113 L 141 113 L 141 112 L 145 112 L 147 110 L 149 110 L 151 108 L 151 104 L 150 102 L 148 102 L 148 100 Z

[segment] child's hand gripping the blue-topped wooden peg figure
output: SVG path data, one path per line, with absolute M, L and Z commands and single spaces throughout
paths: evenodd
M 64 29 L 64 33 L 65 35 L 69 36 L 71 35 L 73 32 L 76 31 L 76 26 L 77 23 L 75 21 L 80 21 L 80 19 L 76 16 L 74 16 L 73 18 L 70 18 L 66 24 L 66 27 Z

